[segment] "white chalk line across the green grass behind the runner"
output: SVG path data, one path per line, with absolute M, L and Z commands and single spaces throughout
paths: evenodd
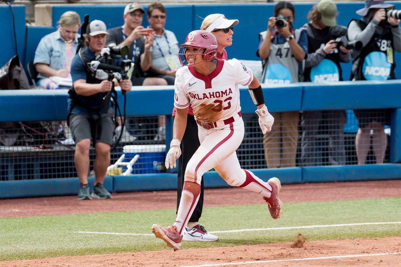
M 209 233 L 239 233 L 239 232 L 253 232 L 253 231 L 269 231 L 269 230 L 289 230 L 289 229 L 309 229 L 309 228 L 323 228 L 323 227 L 346 227 L 358 225 L 395 225 L 401 222 L 383 222 L 383 223 L 341 223 L 335 225 L 306 225 L 306 226 L 291 226 L 291 227 L 271 227 L 271 228 L 255 228 L 255 229 L 238 229 L 226 231 L 210 231 Z M 153 234 L 140 234 L 140 233 L 110 233 L 110 232 L 90 232 L 90 231 L 75 231 L 79 234 L 97 234 L 97 235 L 143 235 L 153 236 Z

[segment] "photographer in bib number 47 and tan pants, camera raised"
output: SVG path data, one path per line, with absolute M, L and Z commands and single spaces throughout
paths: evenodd
M 294 6 L 290 2 L 280 1 L 274 7 L 274 16 L 269 18 L 267 31 L 259 34 L 261 43 L 256 55 L 263 61 L 264 83 L 300 81 L 301 62 L 308 54 L 308 40 L 304 31 L 293 28 L 294 17 Z M 276 26 L 278 20 L 285 22 L 285 26 Z M 267 167 L 294 167 L 299 111 L 273 112 L 271 115 L 275 118 L 275 127 L 263 136 Z

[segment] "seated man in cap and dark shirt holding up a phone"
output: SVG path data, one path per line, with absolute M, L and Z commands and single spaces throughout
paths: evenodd
M 107 45 L 126 45 L 128 47 L 128 55 L 126 59 L 132 59 L 134 71 L 131 76 L 132 85 L 167 85 L 165 79 L 158 77 L 145 77 L 144 71 L 148 71 L 152 63 L 152 52 L 150 51 L 154 37 L 153 34 L 148 35 L 148 30 L 142 26 L 142 18 L 145 10 L 137 3 L 128 4 L 124 8 L 124 25 L 107 30 Z M 121 119 L 117 118 L 119 126 L 115 129 L 114 139 L 123 131 L 122 142 L 133 142 L 136 140 L 126 130 L 122 129 Z

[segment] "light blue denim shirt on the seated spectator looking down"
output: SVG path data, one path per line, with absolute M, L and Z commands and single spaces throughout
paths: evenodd
M 73 42 L 73 51 L 78 47 L 78 38 L 80 34 L 75 35 Z M 44 63 L 52 69 L 59 70 L 65 67 L 65 42 L 61 37 L 59 30 L 44 36 L 36 47 L 35 58 L 33 63 Z M 47 77 L 38 74 L 38 78 L 45 79 Z

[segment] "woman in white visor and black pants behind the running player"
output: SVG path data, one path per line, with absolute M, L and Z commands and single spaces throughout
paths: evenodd
M 217 58 L 227 60 L 227 52 L 225 47 L 228 47 L 233 42 L 234 26 L 238 24 L 238 20 L 228 20 L 223 14 L 210 14 L 207 16 L 202 24 L 201 30 L 207 30 L 216 36 L 217 39 Z M 176 108 L 173 109 L 173 117 L 175 116 Z M 198 138 L 198 124 L 195 121 L 194 113 L 191 106 L 188 109 L 186 129 L 184 136 L 181 140 L 180 149 L 182 156 L 178 158 L 178 177 L 177 177 L 177 210 L 180 205 L 182 186 L 184 185 L 184 174 L 188 161 L 201 143 Z M 199 201 L 195 206 L 188 225 L 185 228 L 183 239 L 187 241 L 217 241 L 219 237 L 206 231 L 206 229 L 199 224 L 199 219 L 203 210 L 203 179 L 201 180 L 201 192 Z M 200 236 L 198 234 L 201 234 Z

